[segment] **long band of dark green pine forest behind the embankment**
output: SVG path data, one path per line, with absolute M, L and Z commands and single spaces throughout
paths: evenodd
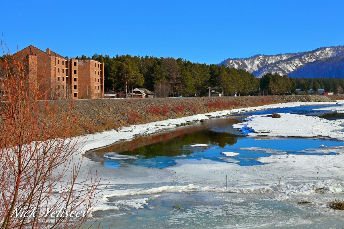
M 92 57 L 76 56 L 76 59 L 104 62 L 104 88 L 114 93 L 127 94 L 133 88 L 144 87 L 158 97 L 207 96 L 212 89 L 227 96 L 281 95 L 297 93 L 297 88 L 302 91 L 323 88 L 333 92 L 344 88 L 344 79 L 290 78 L 272 73 L 255 78 L 242 69 L 193 63 L 182 58 L 94 54 Z

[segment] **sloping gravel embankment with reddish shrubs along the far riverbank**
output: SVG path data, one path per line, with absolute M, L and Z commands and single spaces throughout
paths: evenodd
M 284 102 L 331 102 L 338 96 L 242 96 L 154 99 L 97 99 L 74 101 L 73 112 L 79 117 L 81 134 L 95 133 L 119 126 L 142 124 L 238 107 Z M 57 101 L 57 106 L 68 101 Z

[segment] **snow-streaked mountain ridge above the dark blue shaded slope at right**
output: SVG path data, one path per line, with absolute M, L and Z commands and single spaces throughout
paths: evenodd
M 333 57 L 344 56 L 344 46 L 322 47 L 301 53 L 277 55 L 256 55 L 245 59 L 226 59 L 219 65 L 236 69 L 244 69 L 256 77 L 262 77 L 267 72 L 288 75 L 298 68 L 308 64 Z

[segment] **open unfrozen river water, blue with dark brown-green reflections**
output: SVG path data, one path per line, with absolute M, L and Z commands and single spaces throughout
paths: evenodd
M 257 158 L 268 157 L 272 154 L 334 155 L 337 153 L 312 152 L 308 149 L 318 148 L 321 144 L 329 147 L 342 146 L 343 141 L 330 138 L 251 138 L 245 136 L 240 130 L 233 129 L 233 124 L 240 123 L 248 115 L 275 112 L 314 115 L 312 109 L 320 107 L 322 106 L 276 108 L 213 118 L 205 123 L 194 123 L 162 133 L 138 137 L 131 141 L 118 142 L 105 148 L 87 152 L 86 157 L 103 162 L 104 166 L 118 169 L 126 165 L 164 168 L 177 164 L 179 160 L 201 159 L 250 166 L 262 164 Z M 327 119 L 344 117 L 344 114 L 338 113 L 324 113 L 323 111 L 315 113 Z M 190 147 L 191 144 L 208 144 L 210 148 Z M 249 148 L 261 148 L 261 150 Z M 229 158 L 221 155 L 221 151 L 237 152 L 239 155 Z

